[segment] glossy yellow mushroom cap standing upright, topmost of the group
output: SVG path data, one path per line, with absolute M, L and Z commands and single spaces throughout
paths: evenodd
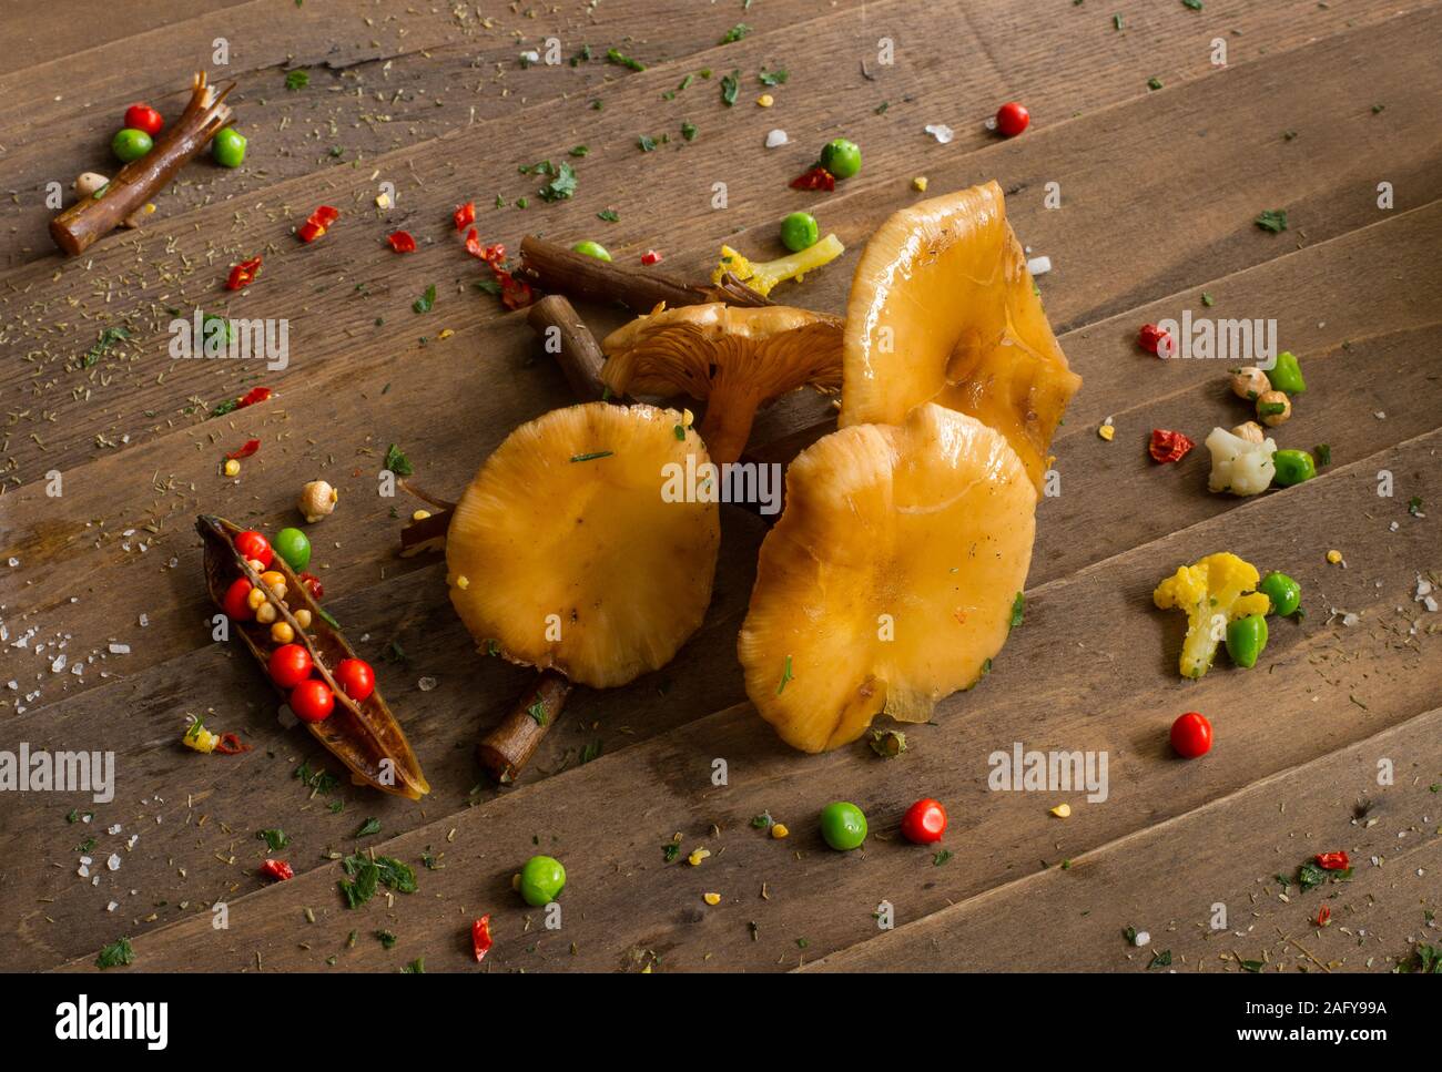
M 995 182 L 917 202 L 867 242 L 846 305 L 842 426 L 936 402 L 1005 435 L 1040 490 L 1080 386 Z

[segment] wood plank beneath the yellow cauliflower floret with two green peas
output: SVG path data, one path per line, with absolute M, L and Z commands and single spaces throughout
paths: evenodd
M 322 867 L 231 902 L 229 932 L 213 932 L 205 914 L 164 926 L 137 942 L 140 962 L 244 968 L 258 955 L 267 967 L 306 970 L 339 952 L 345 967 L 376 968 L 424 954 L 431 970 L 460 968 L 463 926 L 489 911 L 495 967 L 624 968 L 649 957 L 691 970 L 793 967 L 799 938 L 813 958 L 874 934 L 870 912 L 881 898 L 904 903 L 914 919 L 1043 860 L 1080 857 L 1442 706 L 1442 686 L 1423 671 L 1435 660 L 1436 625 L 1410 602 L 1416 575 L 1442 568 L 1436 540 L 1423 519 L 1384 535 L 1373 481 L 1381 467 L 1413 474 L 1416 493 L 1435 501 L 1439 447 L 1442 432 L 1432 432 L 1031 591 L 1027 622 L 992 676 L 945 703 L 934 725 L 911 728 L 914 748 L 898 761 L 884 764 L 861 745 L 789 752 L 741 705 L 386 841 L 384 850 L 405 860 L 446 846 L 446 869 L 424 872 L 414 898 L 348 914 L 336 902 L 335 869 Z M 1405 504 L 1390 509 L 1407 520 Z M 1288 569 L 1304 585 L 1309 617 L 1276 622 L 1255 671 L 1221 664 L 1184 682 L 1175 676 L 1180 615 L 1151 611 L 1149 592 L 1178 562 L 1223 546 Z M 1347 549 L 1350 568 L 1327 566 L 1327 546 Z M 1343 625 L 1327 608 L 1355 612 L 1358 622 Z M 1260 680 L 1269 686 L 1263 710 Z M 1168 756 L 1165 729 L 1184 707 L 1208 712 L 1221 735 L 1203 764 Z M 1058 803 L 1053 794 L 988 792 L 986 756 L 1012 742 L 1106 751 L 1109 801 L 1070 794 L 1076 814 L 1061 826 L 1047 814 Z M 711 782 L 715 758 L 728 764 L 727 787 Z M 960 849 L 946 867 L 894 837 L 903 808 L 923 792 L 952 808 L 950 844 Z M 813 816 L 836 798 L 871 814 L 877 837 L 865 852 L 836 856 L 820 846 Z M 748 828 L 763 810 L 790 826 L 787 841 Z M 711 824 L 720 833 L 708 833 Z M 705 844 L 715 856 L 695 870 L 668 869 L 662 846 L 673 831 L 684 834 L 682 852 Z M 509 892 L 512 870 L 536 844 L 571 873 L 565 929 L 551 937 L 535 929 L 536 918 L 526 934 Z M 300 844 L 294 857 L 304 863 L 319 847 Z M 758 898 L 761 883 L 770 899 Z M 704 890 L 721 892 L 722 906 L 708 911 Z M 147 893 L 173 898 L 173 889 Z M 309 950 L 297 947 L 294 922 L 306 906 L 322 921 Z M 115 929 L 115 921 L 66 914 L 48 944 L 94 941 L 101 924 Z M 30 919 L 26 929 L 36 926 Z M 373 926 L 405 944 L 389 954 L 366 942 L 340 950 L 350 928 Z

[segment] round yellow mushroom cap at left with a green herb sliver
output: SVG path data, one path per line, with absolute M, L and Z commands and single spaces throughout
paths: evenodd
M 715 501 L 663 496 L 688 455 L 708 463 L 682 415 L 640 405 L 557 409 L 506 437 L 446 537 L 451 604 L 482 650 L 594 687 L 671 661 L 721 542 Z

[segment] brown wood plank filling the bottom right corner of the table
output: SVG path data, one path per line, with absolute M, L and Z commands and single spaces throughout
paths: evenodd
M 1172 971 L 1387 971 L 1436 942 L 1439 736 L 1430 710 L 808 970 L 1145 971 L 1168 951 Z M 1338 849 L 1353 880 L 1302 892 L 1298 866 Z

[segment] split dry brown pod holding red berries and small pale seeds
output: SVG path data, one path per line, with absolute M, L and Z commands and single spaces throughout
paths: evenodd
M 352 780 L 358 784 L 372 785 L 384 792 L 394 792 L 411 800 L 420 800 L 430 792 L 431 787 L 427 784 L 425 775 L 421 774 L 421 765 L 405 741 L 401 725 L 381 697 L 381 692 L 373 690 L 358 703 L 345 693 L 332 676 L 335 667 L 346 658 L 356 658 L 356 654 L 340 630 L 332 624 L 335 620 L 311 598 L 310 591 L 286 560 L 275 555 L 267 569 L 277 571 L 286 578 L 286 599 L 290 607 L 274 598 L 273 589 L 236 550 L 235 537 L 241 535 L 242 529 L 222 517 L 208 514 L 196 519 L 196 529 L 205 540 L 205 579 L 211 599 L 215 601 L 216 607 L 225 607 L 226 589 L 239 578 L 245 578 L 255 588 L 264 591 L 275 607 L 277 620 L 286 621 L 291 627 L 293 643 L 304 646 L 310 653 L 313 671 L 335 693 L 335 710 L 330 718 L 323 722 L 306 723 L 316 739 L 350 768 Z M 309 611 L 309 627 L 303 628 L 296 621 L 296 609 Z M 235 618 L 231 620 L 231 625 L 260 663 L 261 670 L 270 677 L 267 663 L 274 644 L 267 627 L 257 621 Z M 280 690 L 278 686 L 277 690 Z M 280 692 L 286 696 L 284 690 Z

